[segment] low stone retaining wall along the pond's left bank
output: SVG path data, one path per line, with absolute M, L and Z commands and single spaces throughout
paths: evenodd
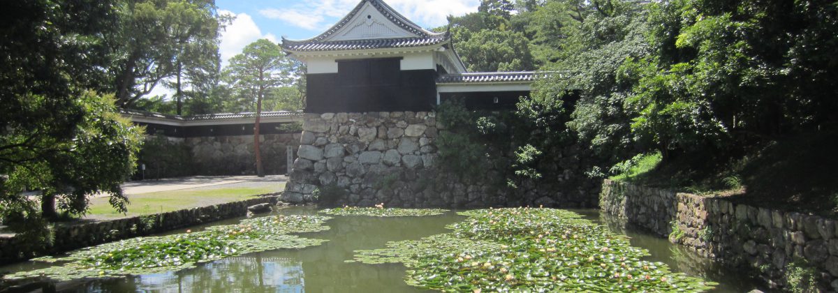
M 266 196 L 131 218 L 83 224 L 58 224 L 53 231 L 54 242 L 46 248 L 37 248 L 39 245 L 32 245 L 15 237 L 0 238 L 0 262 L 28 260 L 39 255 L 58 254 L 111 241 L 241 217 L 247 214 L 247 207 L 259 203 L 277 203 L 278 198 L 278 196 Z

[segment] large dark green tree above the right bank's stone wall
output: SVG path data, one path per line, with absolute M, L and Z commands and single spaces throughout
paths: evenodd
M 633 129 L 663 152 L 725 157 L 835 124 L 838 8 L 825 1 L 650 6 Z M 707 143 L 711 141 L 711 143 Z M 701 146 L 701 147 L 696 147 Z

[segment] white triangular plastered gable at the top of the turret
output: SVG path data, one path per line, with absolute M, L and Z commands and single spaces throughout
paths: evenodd
M 416 38 L 416 34 L 392 23 L 369 2 L 364 4 L 352 20 L 343 28 L 323 41 L 347 41 L 355 39 Z

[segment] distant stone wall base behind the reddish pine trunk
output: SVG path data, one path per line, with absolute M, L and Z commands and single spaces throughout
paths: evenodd
M 262 167 L 267 174 L 287 172 L 287 146 L 294 151 L 300 142 L 299 133 L 259 136 Z M 184 140 L 192 151 L 195 175 L 246 175 L 256 173 L 253 136 L 202 136 Z

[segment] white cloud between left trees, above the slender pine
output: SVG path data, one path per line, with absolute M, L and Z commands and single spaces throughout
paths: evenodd
M 221 33 L 221 63 L 226 65 L 230 58 L 241 54 L 245 46 L 255 42 L 257 39 L 269 39 L 277 43 L 277 36 L 272 33 L 262 34 L 261 29 L 247 13 L 233 13 L 227 10 L 220 10 L 219 14 L 234 16 L 235 20 Z

